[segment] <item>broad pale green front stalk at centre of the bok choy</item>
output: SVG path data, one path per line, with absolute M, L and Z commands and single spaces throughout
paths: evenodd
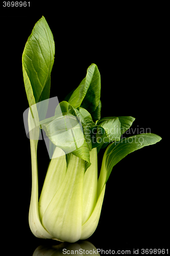
M 65 178 L 47 206 L 42 224 L 54 238 L 74 243 L 81 237 L 85 161 L 70 156 Z

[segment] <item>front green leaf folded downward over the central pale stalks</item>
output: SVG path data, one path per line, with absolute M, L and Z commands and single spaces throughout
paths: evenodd
M 89 147 L 85 140 L 82 126 L 76 116 L 66 113 L 56 115 L 40 122 L 46 136 L 60 147 L 65 154 L 73 155 L 90 162 Z

